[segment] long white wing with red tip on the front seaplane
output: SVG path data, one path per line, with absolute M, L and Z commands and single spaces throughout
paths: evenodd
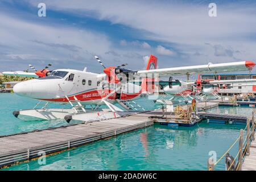
M 138 71 L 137 75 L 144 77 L 148 74 L 159 74 L 159 76 L 173 76 L 173 75 L 186 75 L 187 73 L 209 73 L 209 72 L 232 72 L 232 71 L 248 71 L 253 69 L 254 62 L 251 61 L 239 61 L 232 63 L 220 63 L 220 64 L 206 64 L 196 65 L 190 67 L 176 67 L 176 68 L 162 68 L 162 69 L 149 69 Z

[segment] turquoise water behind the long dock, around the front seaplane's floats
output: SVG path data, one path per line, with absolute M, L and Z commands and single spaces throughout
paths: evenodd
M 138 104 L 143 105 L 146 100 L 138 101 Z M 22 133 L 32 130 L 42 130 L 49 127 L 67 126 L 68 123 L 64 119 L 54 119 L 51 121 L 21 121 L 15 118 L 13 111 L 20 109 L 32 109 L 38 101 L 31 98 L 24 98 L 17 96 L 14 93 L 1 93 L 0 94 L 0 136 Z M 44 102 L 45 103 L 45 102 Z M 146 109 L 155 109 L 154 102 L 147 101 Z M 41 106 L 42 107 L 42 106 Z M 49 105 L 51 108 L 60 107 L 58 104 Z M 63 106 L 70 108 L 70 106 Z M 80 121 L 72 121 L 71 124 L 80 123 Z

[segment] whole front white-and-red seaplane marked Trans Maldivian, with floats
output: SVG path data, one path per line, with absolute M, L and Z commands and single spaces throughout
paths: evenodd
M 71 119 L 84 121 L 98 118 L 110 118 L 127 113 L 127 102 L 154 94 L 155 81 L 161 76 L 187 75 L 188 73 L 247 71 L 253 69 L 255 63 L 238 61 L 233 63 L 194 65 L 190 67 L 174 67 L 156 69 L 158 59 L 150 55 L 145 70 L 126 69 L 127 64 L 118 67 L 105 67 L 98 56 L 98 63 L 104 73 L 91 73 L 86 69 L 55 69 L 44 77 L 23 81 L 13 88 L 14 93 L 39 101 L 46 101 L 42 108 L 36 106 L 30 110 L 14 111 L 15 117 L 24 121 L 46 119 Z M 11 73 L 8 72 L 10 75 Z M 15 75 L 15 73 L 13 73 Z M 34 73 L 35 74 L 35 73 Z M 3 72 L 6 75 L 6 72 Z M 18 75 L 16 73 L 16 76 Z M 133 84 L 135 78 L 142 78 L 142 84 Z M 72 109 L 47 109 L 49 103 L 70 104 Z M 40 103 L 40 102 L 39 102 Z M 119 107 L 115 104 L 119 104 Z M 100 106 L 107 108 L 100 109 Z M 91 109 L 85 109 L 90 106 Z M 102 116 L 102 117 L 101 117 Z

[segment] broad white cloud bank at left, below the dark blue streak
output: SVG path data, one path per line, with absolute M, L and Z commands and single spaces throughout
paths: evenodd
M 79 69 L 93 55 L 104 55 L 112 46 L 108 37 L 98 32 L 40 24 L 3 13 L 0 16 L 1 71 L 26 69 L 28 64 L 43 67 L 46 63 L 52 63 L 53 68 L 72 65 Z M 6 64 L 15 60 L 17 64 Z

